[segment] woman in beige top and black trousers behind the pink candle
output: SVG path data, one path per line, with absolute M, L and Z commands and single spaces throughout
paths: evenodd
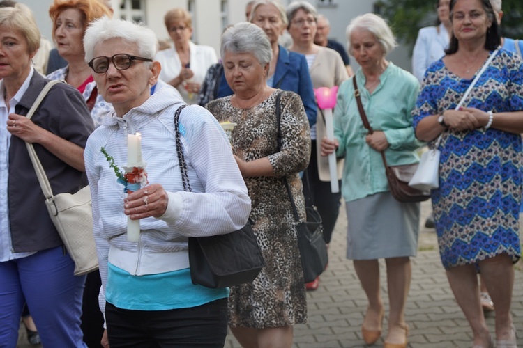
M 287 31 L 292 36 L 291 51 L 305 55 L 312 86 L 314 88 L 340 86 L 349 78 L 342 57 L 335 50 L 314 44 L 317 31 L 318 14 L 314 6 L 307 1 L 294 1 L 287 6 L 289 26 Z M 340 212 L 341 193 L 331 192 L 331 175 L 328 159 L 320 155 L 321 138 L 326 135 L 323 112 L 318 108 L 317 122 L 310 129 L 312 153 L 310 164 L 303 175 L 303 186 L 307 202 L 316 205 L 324 226 L 325 242 L 331 242 L 338 213 Z M 341 186 L 343 160 L 338 160 L 338 184 Z M 307 284 L 308 290 L 316 290 L 319 278 Z

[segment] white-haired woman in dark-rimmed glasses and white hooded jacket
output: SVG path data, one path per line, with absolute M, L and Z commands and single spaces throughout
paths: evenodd
M 85 152 L 107 324 L 103 343 L 223 347 L 229 289 L 192 284 L 188 237 L 232 232 L 248 219 L 250 198 L 227 136 L 197 105 L 181 112 L 175 129 L 183 105 L 176 91 L 150 94 L 160 73 L 151 29 L 103 17 L 87 29 L 84 46 L 98 91 L 114 107 Z M 128 134 L 135 132 L 142 134 L 149 184 L 126 197 L 114 169 L 127 165 Z M 192 192 L 183 190 L 176 132 Z M 138 242 L 128 241 L 128 216 L 140 221 Z

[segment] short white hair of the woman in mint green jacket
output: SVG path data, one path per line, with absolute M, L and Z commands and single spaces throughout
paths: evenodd
M 391 27 L 388 26 L 385 19 L 379 17 L 379 15 L 374 15 L 374 13 L 365 13 L 365 15 L 359 15 L 352 19 L 351 24 L 347 26 L 347 31 L 345 31 L 350 54 L 352 54 L 351 35 L 356 29 L 370 31 L 381 45 L 385 55 L 397 47 Z

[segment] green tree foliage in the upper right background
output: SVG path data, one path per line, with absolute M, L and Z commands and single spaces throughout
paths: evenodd
M 414 46 L 418 31 L 437 21 L 435 0 L 380 0 L 377 12 L 386 18 L 397 40 Z M 523 39 L 523 1 L 503 0 L 501 33 L 508 38 Z

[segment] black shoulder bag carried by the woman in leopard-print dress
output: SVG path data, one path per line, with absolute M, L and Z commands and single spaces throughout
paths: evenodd
M 276 121 L 278 122 L 278 151 L 282 148 L 282 130 L 280 127 L 280 97 L 276 97 Z M 303 173 L 307 175 L 307 171 Z M 283 183 L 292 207 L 292 214 L 296 221 L 296 232 L 298 237 L 298 248 L 300 249 L 301 267 L 303 268 L 303 279 L 310 283 L 323 273 L 328 263 L 327 244 L 324 238 L 324 228 L 321 225 L 319 212 L 311 206 L 305 207 L 306 221 L 300 221 L 294 196 L 292 195 L 287 177 L 283 177 Z M 308 180 L 307 180 L 308 182 Z

